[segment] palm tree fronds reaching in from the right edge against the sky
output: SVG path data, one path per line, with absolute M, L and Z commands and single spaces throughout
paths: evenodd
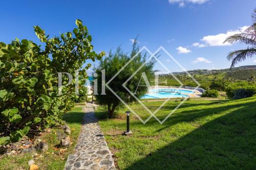
M 232 64 L 230 68 L 234 67 L 238 62 L 244 61 L 247 58 L 255 57 L 256 55 L 256 8 L 254 12 L 251 14 L 252 25 L 248 27 L 244 32 L 240 34 L 234 34 L 226 38 L 223 42 L 234 43 L 240 41 L 241 43 L 245 43 L 248 47 L 244 50 L 232 51 L 228 54 L 227 59 L 232 60 Z

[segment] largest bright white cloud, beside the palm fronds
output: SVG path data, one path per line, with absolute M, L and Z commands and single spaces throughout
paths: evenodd
M 239 30 L 229 30 L 226 33 L 221 33 L 217 35 L 207 35 L 204 36 L 201 41 L 205 43 L 205 45 L 209 46 L 225 46 L 225 45 L 231 45 L 228 42 L 225 42 L 225 39 L 231 35 L 239 34 L 243 31 L 245 31 L 248 28 L 248 26 L 241 27 Z

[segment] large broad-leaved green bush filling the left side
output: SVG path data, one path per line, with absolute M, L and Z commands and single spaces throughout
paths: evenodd
M 75 80 L 58 95 L 57 72 L 75 76 L 79 69 L 79 86 L 87 77 L 86 61 L 99 60 L 104 52 L 96 54 L 92 37 L 81 20 L 76 20 L 73 33 L 49 38 L 45 31 L 34 26 L 35 33 L 45 48 L 23 39 L 10 44 L 0 42 L 0 145 L 20 140 L 29 132 L 61 124 L 60 116 L 79 100 L 75 94 Z M 63 74 L 65 85 L 68 77 Z M 85 95 L 86 89 L 79 91 Z

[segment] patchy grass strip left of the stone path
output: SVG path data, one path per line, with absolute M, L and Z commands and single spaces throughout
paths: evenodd
M 44 157 L 39 158 L 38 160 L 33 159 L 30 154 L 15 157 L 2 157 L 0 158 L 0 169 L 29 169 L 28 161 L 31 159 L 35 161 L 35 164 L 39 166 L 39 169 L 63 169 L 68 155 L 73 153 L 73 148 L 80 132 L 82 117 L 83 112 L 81 107 L 75 107 L 72 111 L 63 116 L 63 119 L 66 120 L 72 130 L 71 139 L 73 141 L 71 147 L 69 147 L 63 155 L 57 155 L 59 149 L 57 151 L 54 150 L 55 145 L 59 144 L 55 135 L 55 132 L 58 129 L 52 129 L 51 133 L 42 135 L 42 140 L 46 140 L 47 143 L 49 143 L 49 154 L 42 154 Z

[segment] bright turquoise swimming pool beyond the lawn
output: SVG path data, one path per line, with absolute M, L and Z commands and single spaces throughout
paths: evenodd
M 163 98 L 186 98 L 194 91 L 171 88 L 155 88 L 149 89 L 141 99 L 163 99 Z

